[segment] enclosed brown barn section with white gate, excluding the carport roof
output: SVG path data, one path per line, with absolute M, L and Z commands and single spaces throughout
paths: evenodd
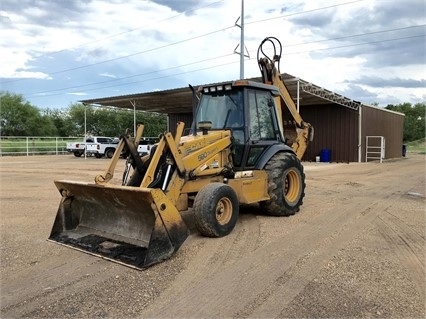
M 315 128 L 304 160 L 314 160 L 324 149 L 330 151 L 332 162 L 402 156 L 404 114 L 363 104 L 351 109 L 338 103 L 302 104 L 300 114 Z

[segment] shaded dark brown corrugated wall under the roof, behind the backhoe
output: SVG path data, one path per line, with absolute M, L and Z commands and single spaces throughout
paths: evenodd
M 337 104 L 302 105 L 300 115 L 315 130 L 304 161 L 315 161 L 323 149 L 331 151 L 331 162 L 358 161 L 358 111 Z

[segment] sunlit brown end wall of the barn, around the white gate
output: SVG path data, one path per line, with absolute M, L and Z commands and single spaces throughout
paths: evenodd
M 384 136 L 385 158 L 401 157 L 404 115 L 371 106 L 363 106 L 361 114 L 361 160 L 365 161 L 366 136 Z

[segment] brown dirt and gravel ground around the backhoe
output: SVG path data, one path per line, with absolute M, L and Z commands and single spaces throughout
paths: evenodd
M 1 318 L 426 316 L 425 155 L 304 163 L 295 216 L 244 207 L 234 231 L 213 239 L 186 212 L 190 237 L 144 271 L 46 241 L 60 201 L 53 180 L 92 181 L 107 163 L 0 158 Z

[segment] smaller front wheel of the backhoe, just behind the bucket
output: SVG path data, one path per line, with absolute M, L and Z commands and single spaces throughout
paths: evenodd
M 223 237 L 235 227 L 239 202 L 231 186 L 211 183 L 200 189 L 193 205 L 195 226 L 206 237 Z

